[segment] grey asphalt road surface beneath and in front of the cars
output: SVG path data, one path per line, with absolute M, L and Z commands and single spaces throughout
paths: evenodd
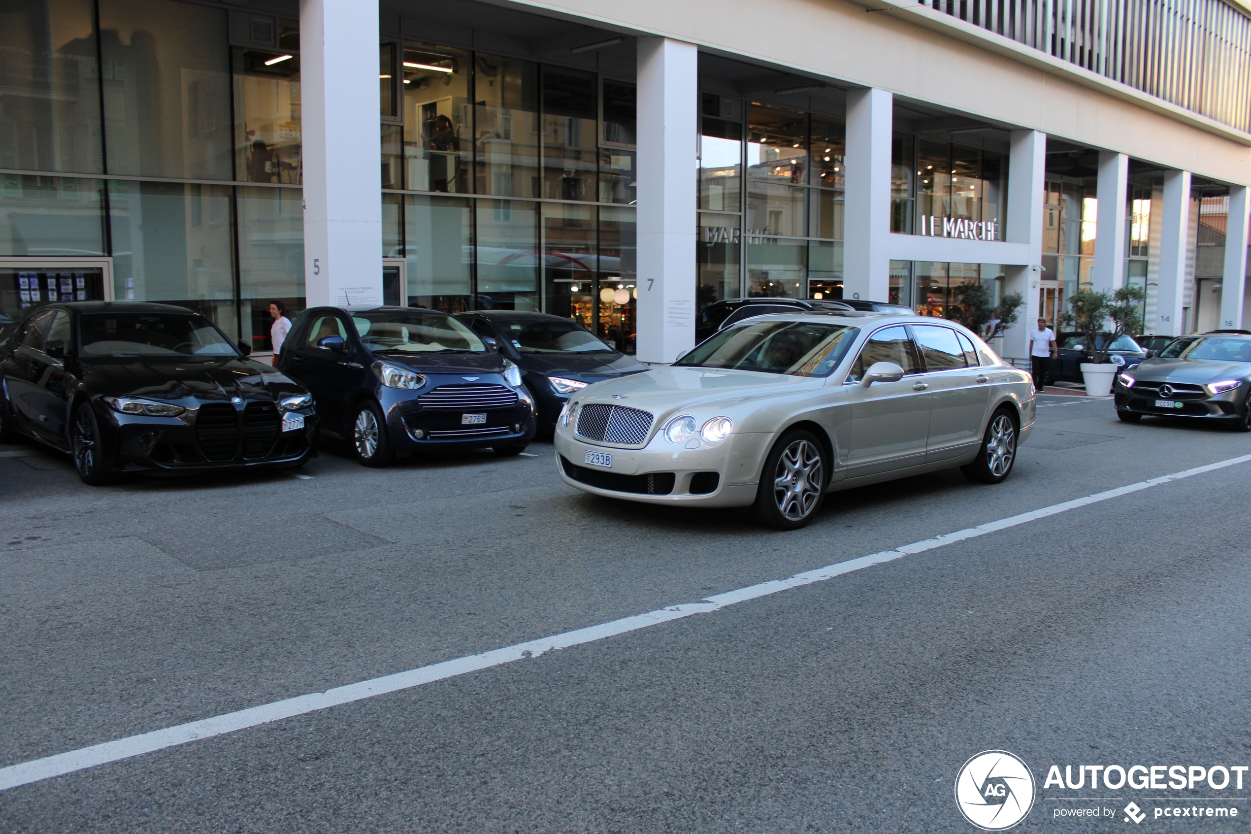
M 950 471 L 836 494 L 796 533 L 577 493 L 547 444 L 100 489 L 0 446 L 0 766 L 1251 454 L 1251 435 L 1043 403 L 1003 485 Z M 1038 780 L 1013 830 L 1246 830 L 1251 778 L 1042 780 L 1051 764 L 1251 765 L 1248 473 L 14 788 L 0 831 L 973 831 L 953 783 L 986 749 Z M 1057 818 L 1073 798 L 1117 813 Z M 1170 798 L 1241 814 L 1122 819 Z

